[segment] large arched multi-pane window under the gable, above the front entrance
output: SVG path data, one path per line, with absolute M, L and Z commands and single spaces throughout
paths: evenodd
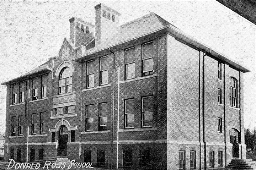
M 59 94 L 72 92 L 72 71 L 64 67 L 59 75 Z

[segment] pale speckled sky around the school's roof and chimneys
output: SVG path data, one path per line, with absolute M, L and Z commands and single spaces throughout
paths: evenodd
M 121 23 L 155 12 L 193 38 L 249 68 L 244 74 L 245 128 L 255 127 L 256 26 L 215 0 L 0 1 L 0 82 L 55 56 L 69 37 L 69 18 L 95 24 L 100 2 L 119 11 Z M 0 85 L 0 132 L 5 131 L 6 87 Z

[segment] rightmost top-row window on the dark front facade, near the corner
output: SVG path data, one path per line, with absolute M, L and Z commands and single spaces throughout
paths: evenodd
M 142 45 L 142 68 L 143 76 L 153 74 L 153 41 Z

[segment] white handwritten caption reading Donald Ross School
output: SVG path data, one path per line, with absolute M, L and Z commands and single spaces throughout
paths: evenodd
M 10 160 L 10 163 L 8 165 L 8 168 L 7 169 L 11 169 L 11 168 L 15 168 L 15 169 L 39 169 L 40 167 L 42 168 L 41 164 L 40 163 L 16 163 L 15 164 L 15 161 L 13 159 L 9 159 Z M 11 165 L 12 164 L 12 165 Z M 76 162 L 75 163 L 75 160 L 71 160 L 70 161 L 70 164 L 66 165 L 67 163 L 62 163 L 62 162 L 59 162 L 59 163 L 51 163 L 50 161 L 46 161 L 43 165 L 43 169 L 44 168 L 47 168 L 47 170 L 49 170 L 49 168 L 51 169 L 64 169 L 66 166 L 67 166 L 67 169 L 70 169 L 72 167 L 74 168 L 94 168 L 92 167 L 92 163 L 90 162 L 84 162 L 84 163 L 78 163 Z

